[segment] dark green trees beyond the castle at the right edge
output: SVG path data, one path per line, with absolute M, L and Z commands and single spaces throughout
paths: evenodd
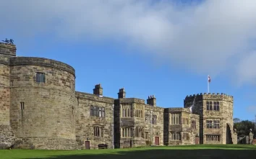
M 234 129 L 236 129 L 237 135 L 249 135 L 249 129 L 252 129 L 252 133 L 256 135 L 255 123 L 249 120 L 234 123 Z

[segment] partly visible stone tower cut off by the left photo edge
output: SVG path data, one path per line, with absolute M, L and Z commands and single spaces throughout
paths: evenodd
M 0 149 L 6 149 L 14 144 L 14 133 L 9 124 L 9 58 L 15 55 L 15 45 L 0 42 Z

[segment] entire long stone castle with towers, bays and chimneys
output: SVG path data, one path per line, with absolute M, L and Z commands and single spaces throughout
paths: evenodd
M 75 91 L 70 65 L 17 57 L 0 43 L 0 147 L 97 149 L 142 145 L 236 144 L 233 96 L 194 94 L 184 106 L 162 108 L 155 96 L 117 99 Z M 195 106 L 192 106 L 192 104 Z M 192 106 L 192 107 L 191 107 Z

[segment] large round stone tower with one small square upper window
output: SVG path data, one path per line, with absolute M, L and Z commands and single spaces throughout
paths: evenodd
M 29 149 L 75 149 L 74 68 L 46 58 L 17 57 L 10 65 L 10 124 Z

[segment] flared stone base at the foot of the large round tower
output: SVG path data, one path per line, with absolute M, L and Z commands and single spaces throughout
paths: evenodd
M 14 148 L 37 150 L 75 150 L 76 140 L 64 138 L 17 138 Z

